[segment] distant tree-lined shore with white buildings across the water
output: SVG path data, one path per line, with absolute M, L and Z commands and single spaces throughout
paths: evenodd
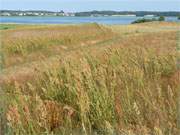
M 0 10 L 0 16 L 180 16 L 180 11 L 87 11 Z

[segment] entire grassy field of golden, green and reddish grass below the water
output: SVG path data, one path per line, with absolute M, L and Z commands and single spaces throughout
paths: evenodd
M 180 134 L 179 23 L 0 29 L 7 135 Z

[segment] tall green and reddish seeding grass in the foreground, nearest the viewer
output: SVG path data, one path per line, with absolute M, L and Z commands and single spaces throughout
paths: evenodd
M 4 84 L 7 134 L 177 135 L 178 83 L 173 52 L 79 51 L 34 81 Z

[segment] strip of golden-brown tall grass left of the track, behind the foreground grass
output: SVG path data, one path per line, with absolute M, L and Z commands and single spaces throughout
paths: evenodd
M 44 26 L 45 27 L 45 26 Z M 114 36 L 96 23 L 72 26 L 46 26 L 12 29 L 2 32 L 4 66 L 35 61 Z

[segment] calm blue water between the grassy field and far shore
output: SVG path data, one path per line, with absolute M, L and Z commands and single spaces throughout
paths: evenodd
M 96 22 L 101 24 L 130 24 L 131 22 L 139 18 L 142 17 L 0 17 L 0 22 L 23 24 L 78 24 L 90 22 Z M 166 21 L 180 22 L 177 17 L 166 17 Z

